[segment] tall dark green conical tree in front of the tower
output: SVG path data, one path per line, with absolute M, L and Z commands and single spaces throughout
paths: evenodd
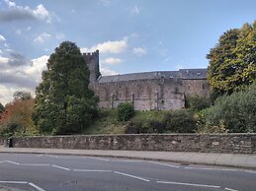
M 78 133 L 92 122 L 98 97 L 88 89 L 89 75 L 75 43 L 64 41 L 55 48 L 36 90 L 33 119 L 42 133 Z

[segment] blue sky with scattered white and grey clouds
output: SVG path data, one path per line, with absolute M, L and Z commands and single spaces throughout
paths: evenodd
M 34 95 L 64 40 L 99 49 L 105 76 L 207 68 L 218 37 L 254 20 L 255 0 L 0 0 L 0 102 Z

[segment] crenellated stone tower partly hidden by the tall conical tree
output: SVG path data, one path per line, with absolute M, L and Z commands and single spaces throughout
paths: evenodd
M 99 65 L 99 50 L 92 53 L 83 53 L 88 69 L 90 71 L 89 87 L 94 89 L 96 80 L 101 76 Z

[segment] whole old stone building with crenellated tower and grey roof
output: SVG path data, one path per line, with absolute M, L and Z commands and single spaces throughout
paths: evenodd
M 101 108 L 130 101 L 135 110 L 174 110 L 185 106 L 186 96 L 210 94 L 207 69 L 101 76 L 99 50 L 83 56 L 90 70 L 90 88 L 100 97 Z

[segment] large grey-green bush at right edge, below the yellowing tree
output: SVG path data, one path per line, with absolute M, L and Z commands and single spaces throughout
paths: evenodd
M 206 110 L 206 129 L 229 133 L 256 132 L 256 84 L 230 96 L 220 96 Z

